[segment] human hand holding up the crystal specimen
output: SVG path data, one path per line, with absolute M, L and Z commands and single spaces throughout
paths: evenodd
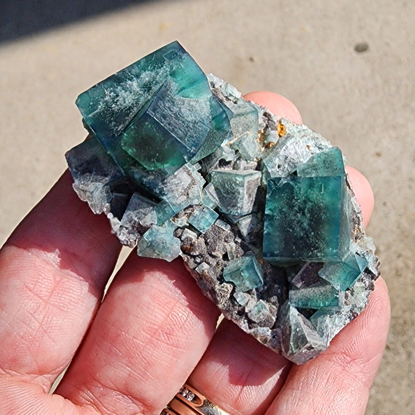
M 245 98 L 301 122 L 279 95 Z M 367 224 L 371 188 L 347 171 Z M 364 413 L 390 319 L 381 278 L 326 352 L 292 365 L 228 320 L 215 331 L 219 311 L 180 260 L 132 252 L 100 303 L 120 244 L 71 182 L 64 173 L 0 251 L 0 414 L 157 415 L 187 379 L 230 414 Z

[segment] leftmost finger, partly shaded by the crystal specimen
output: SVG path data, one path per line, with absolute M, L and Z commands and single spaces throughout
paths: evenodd
M 66 171 L 0 251 L 0 373 L 49 390 L 93 318 L 120 247 Z

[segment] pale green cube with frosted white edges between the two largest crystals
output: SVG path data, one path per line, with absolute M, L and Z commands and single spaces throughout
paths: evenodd
M 261 172 L 256 170 L 212 171 L 220 212 L 231 215 L 247 215 L 253 212 L 256 190 L 261 183 Z

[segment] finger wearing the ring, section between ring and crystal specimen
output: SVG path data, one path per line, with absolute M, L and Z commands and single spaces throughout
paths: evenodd
M 231 414 L 266 412 L 291 362 L 229 320 L 218 327 L 188 383 Z

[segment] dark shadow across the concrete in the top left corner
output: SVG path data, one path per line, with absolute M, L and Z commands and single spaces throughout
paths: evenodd
M 151 0 L 0 0 L 0 42 Z

